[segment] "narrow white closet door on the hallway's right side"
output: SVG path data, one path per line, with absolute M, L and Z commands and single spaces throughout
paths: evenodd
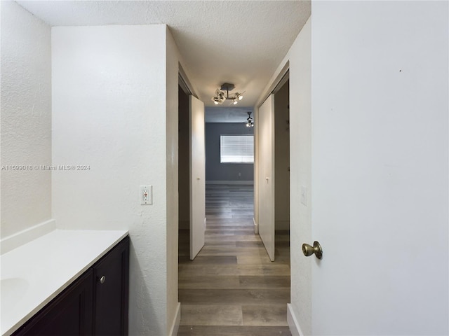
M 259 235 L 274 261 L 274 97 L 259 108 Z

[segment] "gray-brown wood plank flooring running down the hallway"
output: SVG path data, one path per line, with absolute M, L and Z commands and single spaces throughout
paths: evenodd
M 206 187 L 206 244 L 193 261 L 180 231 L 178 336 L 291 335 L 288 232 L 276 232 L 271 262 L 253 211 L 253 186 Z

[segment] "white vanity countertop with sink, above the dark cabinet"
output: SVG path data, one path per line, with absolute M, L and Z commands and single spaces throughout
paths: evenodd
M 1 335 L 11 335 L 126 235 L 54 230 L 1 255 Z

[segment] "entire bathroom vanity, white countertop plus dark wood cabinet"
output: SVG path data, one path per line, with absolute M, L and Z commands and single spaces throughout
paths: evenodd
M 55 230 L 1 262 L 1 335 L 128 335 L 128 232 Z

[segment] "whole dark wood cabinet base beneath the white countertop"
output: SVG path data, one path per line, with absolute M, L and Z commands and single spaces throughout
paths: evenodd
M 126 237 L 13 336 L 128 335 L 128 284 Z

